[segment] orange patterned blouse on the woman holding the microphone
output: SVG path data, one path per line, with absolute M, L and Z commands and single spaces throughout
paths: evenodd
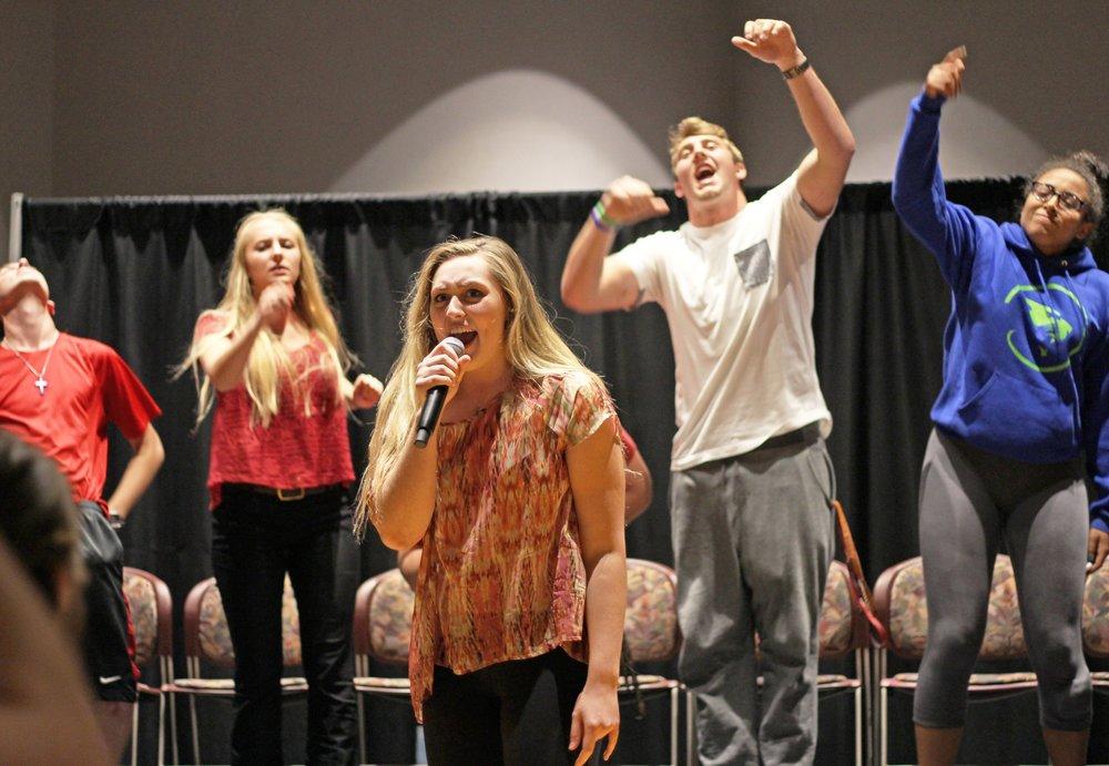
M 563 647 L 586 660 L 586 568 L 566 450 L 615 412 L 583 372 L 517 380 L 439 426 L 408 675 L 423 719 L 435 665 L 458 674 Z

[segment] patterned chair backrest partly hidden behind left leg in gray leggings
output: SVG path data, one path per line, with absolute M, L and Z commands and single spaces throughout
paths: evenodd
M 920 558 L 894 564 L 874 588 L 875 611 L 889 630 L 889 648 L 906 660 L 919 660 L 928 639 L 928 600 L 924 592 Z M 979 660 L 1017 660 L 1026 656 L 1025 633 L 1013 563 L 1007 555 L 994 561 L 986 634 Z

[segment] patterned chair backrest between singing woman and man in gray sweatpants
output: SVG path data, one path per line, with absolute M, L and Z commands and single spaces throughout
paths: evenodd
M 667 662 L 681 647 L 678 576 L 669 566 L 628 559 L 624 646 L 632 662 Z

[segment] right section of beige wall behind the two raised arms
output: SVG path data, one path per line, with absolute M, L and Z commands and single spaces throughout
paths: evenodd
M 794 20 L 855 133 L 848 181 L 892 177 L 908 100 L 958 44 L 969 55 L 963 96 L 945 109 L 947 177 L 1028 173 L 1081 147 L 1109 156 L 1105 0 L 776 0 L 741 3 L 742 12 Z M 796 165 L 806 141 L 781 82 L 746 69 L 736 74 L 735 124 L 752 181 L 772 183 Z

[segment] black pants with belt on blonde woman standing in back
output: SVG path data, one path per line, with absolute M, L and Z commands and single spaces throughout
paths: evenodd
M 224 488 L 212 563 L 235 647 L 232 763 L 281 764 L 282 593 L 288 572 L 308 681 L 308 764 L 355 753 L 350 616 L 358 561 L 340 488 L 292 502 Z

